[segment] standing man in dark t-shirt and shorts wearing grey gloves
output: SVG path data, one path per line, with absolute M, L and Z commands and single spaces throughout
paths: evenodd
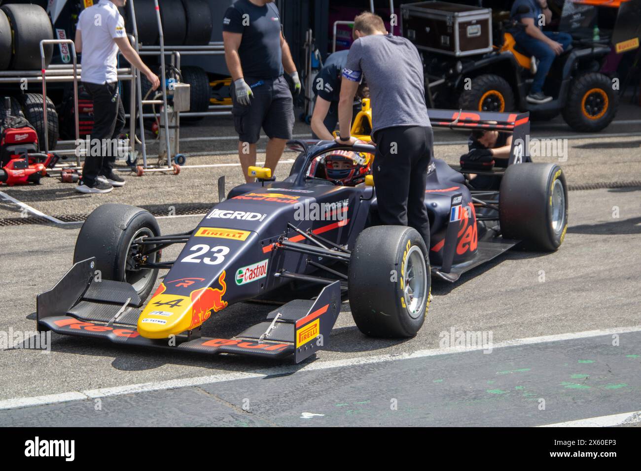
M 273 0 L 238 0 L 225 12 L 222 39 L 233 79 L 231 113 L 238 133 L 238 156 L 246 181 L 256 165 L 256 142 L 263 128 L 269 138 L 265 167 L 276 170 L 294 127 L 294 100 L 283 69 L 299 93 L 301 81 L 283 37 Z

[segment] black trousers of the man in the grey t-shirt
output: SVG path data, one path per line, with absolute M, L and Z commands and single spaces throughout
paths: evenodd
M 380 224 L 410 226 L 419 231 L 429 250 L 429 219 L 425 207 L 432 128 L 395 126 L 374 133 L 372 165 Z

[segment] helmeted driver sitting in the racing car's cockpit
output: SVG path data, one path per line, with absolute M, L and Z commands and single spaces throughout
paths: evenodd
M 307 175 L 329 180 L 337 185 L 356 186 L 370 174 L 372 154 L 354 151 L 330 151 L 319 155 L 310 164 Z

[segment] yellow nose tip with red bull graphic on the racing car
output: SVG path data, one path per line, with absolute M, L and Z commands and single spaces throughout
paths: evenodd
M 224 271 L 218 282 L 221 288 L 200 288 L 189 296 L 167 294 L 161 283 L 138 317 L 138 333 L 146 338 L 168 338 L 200 326 L 212 312 L 227 307 L 222 299 L 227 291 Z

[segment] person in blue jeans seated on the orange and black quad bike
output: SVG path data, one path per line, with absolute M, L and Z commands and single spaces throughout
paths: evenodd
M 527 12 L 524 12 L 527 7 Z M 552 12 L 547 7 L 547 0 L 515 0 L 510 10 L 510 18 L 525 25 L 524 29 L 514 31 L 517 45 L 530 56 L 538 60 L 537 73 L 529 90 L 528 103 L 547 103 L 552 97 L 543 93 L 545 76 L 549 72 L 556 56 L 567 51 L 572 44 L 572 37 L 567 33 L 542 31 L 544 24 L 552 20 Z

